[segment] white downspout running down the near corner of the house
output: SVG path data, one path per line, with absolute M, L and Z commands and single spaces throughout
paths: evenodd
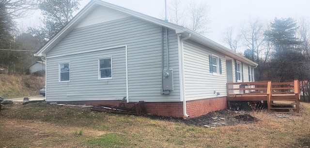
M 181 36 L 181 35 L 180 35 Z M 180 40 L 180 44 L 181 44 L 181 78 L 182 78 L 182 99 L 183 99 L 183 115 L 186 117 L 186 118 L 188 118 L 189 117 L 189 115 L 187 115 L 187 113 L 186 113 L 186 97 L 185 97 L 185 82 L 184 82 L 184 57 L 183 57 L 183 50 L 184 50 L 184 45 L 183 45 L 183 41 L 184 40 L 187 40 L 187 39 L 189 39 L 190 38 L 190 36 L 191 36 L 191 34 L 188 34 L 188 36 L 187 37 L 185 37 L 185 38 L 182 38 L 181 40 Z

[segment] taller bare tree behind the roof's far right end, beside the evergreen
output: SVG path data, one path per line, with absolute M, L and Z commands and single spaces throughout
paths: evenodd
M 242 40 L 245 45 L 251 50 L 251 60 L 259 62 L 259 54 L 263 43 L 264 24 L 259 19 L 249 20 L 249 22 L 241 28 Z M 256 54 L 255 54 L 256 53 Z

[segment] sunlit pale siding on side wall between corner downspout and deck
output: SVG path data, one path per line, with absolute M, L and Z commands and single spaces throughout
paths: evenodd
M 210 73 L 209 55 L 216 54 L 221 59 L 222 74 Z M 184 43 L 184 75 L 186 100 L 226 96 L 225 55 L 196 42 Z M 214 91 L 220 95 L 214 94 Z

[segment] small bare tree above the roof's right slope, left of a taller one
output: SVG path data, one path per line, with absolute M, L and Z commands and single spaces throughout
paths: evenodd
M 234 27 L 226 27 L 225 31 L 222 33 L 222 39 L 232 51 L 236 52 L 239 47 L 240 36 L 234 34 Z

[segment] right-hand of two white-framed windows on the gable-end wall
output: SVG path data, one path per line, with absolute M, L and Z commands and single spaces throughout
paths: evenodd
M 112 78 L 112 57 L 99 59 L 99 79 Z

